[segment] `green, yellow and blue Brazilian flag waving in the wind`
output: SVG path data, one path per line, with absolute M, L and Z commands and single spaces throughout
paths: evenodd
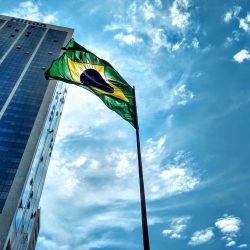
M 45 72 L 47 80 L 56 79 L 83 87 L 135 127 L 133 88 L 105 60 L 71 39 L 65 52 Z

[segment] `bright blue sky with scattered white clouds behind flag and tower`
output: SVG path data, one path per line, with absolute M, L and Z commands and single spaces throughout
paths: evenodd
M 135 85 L 152 250 L 250 249 L 249 0 L 0 0 Z M 140 250 L 135 130 L 69 86 L 37 250 Z

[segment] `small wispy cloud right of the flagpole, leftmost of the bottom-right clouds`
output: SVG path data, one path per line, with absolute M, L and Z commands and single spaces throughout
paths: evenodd
M 173 218 L 169 228 L 162 231 L 163 236 L 168 236 L 170 239 L 182 238 L 190 219 L 190 216 Z

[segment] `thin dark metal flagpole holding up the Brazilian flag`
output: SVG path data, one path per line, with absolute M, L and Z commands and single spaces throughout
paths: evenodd
M 136 129 L 139 182 L 140 182 L 143 245 L 144 245 L 144 250 L 150 250 L 149 237 L 148 237 L 147 208 L 146 208 L 145 191 L 144 191 L 143 169 L 142 169 L 142 160 L 141 160 L 141 145 L 140 145 L 139 122 L 138 122 L 138 115 L 137 115 L 135 87 L 133 87 L 133 94 L 134 94 L 134 106 L 135 106 L 135 129 Z

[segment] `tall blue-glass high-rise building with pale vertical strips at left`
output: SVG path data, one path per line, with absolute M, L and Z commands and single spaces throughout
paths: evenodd
M 44 72 L 72 29 L 0 15 L 0 249 L 34 249 L 66 94 Z

